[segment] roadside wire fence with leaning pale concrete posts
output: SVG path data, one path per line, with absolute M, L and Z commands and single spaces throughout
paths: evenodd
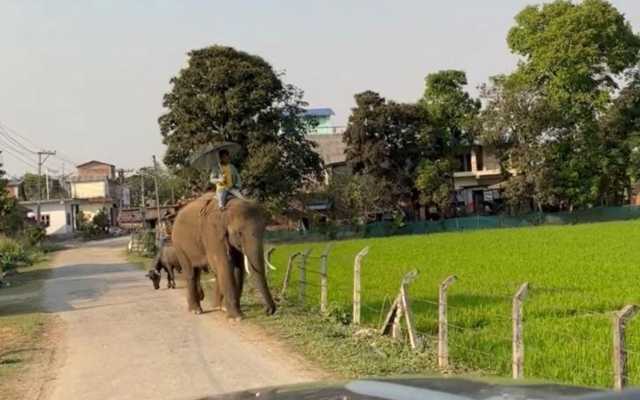
M 398 282 L 397 293 L 371 299 L 362 296 L 367 288 L 361 288 L 359 283 L 358 263 L 366 257 L 364 250 L 354 255 L 352 281 L 345 279 L 344 271 L 339 274 L 342 279 L 335 277 L 330 262 L 326 269 L 310 267 L 310 260 L 323 257 L 312 258 L 307 251 L 307 257 L 299 257 L 295 268 L 291 268 L 292 276 L 272 284 L 283 298 L 306 307 L 309 312 L 317 312 L 318 308 L 324 312 L 338 309 L 354 325 L 406 340 L 416 350 L 424 350 L 427 343 L 437 345 L 443 371 L 477 368 L 500 375 L 512 373 L 514 378 L 527 376 L 616 388 L 640 383 L 640 335 L 629 343 L 624 340 L 624 327 L 636 312 L 634 306 L 627 306 L 633 312 L 624 317 L 622 329 L 616 330 L 612 329 L 612 321 L 622 312 L 616 309 L 582 312 L 572 309 L 569 315 L 527 314 L 528 284 L 520 287 L 498 284 L 500 291 L 508 290 L 513 296 L 496 296 L 494 300 L 500 306 L 493 309 L 449 304 L 446 288 L 442 292 L 444 282 L 437 299 L 414 297 L 410 295 L 410 285 L 417 274 L 407 274 Z M 329 253 L 324 257 L 327 261 Z M 323 297 L 323 290 L 328 295 Z M 536 293 L 535 289 L 532 291 Z M 537 294 L 544 296 L 545 292 L 540 290 Z

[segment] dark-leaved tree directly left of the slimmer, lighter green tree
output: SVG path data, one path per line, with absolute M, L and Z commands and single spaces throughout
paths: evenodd
M 347 164 L 355 174 L 393 182 L 389 190 L 396 204 L 414 199 L 414 173 L 424 155 L 422 113 L 415 104 L 387 101 L 372 91 L 356 94 L 355 100 L 343 137 Z

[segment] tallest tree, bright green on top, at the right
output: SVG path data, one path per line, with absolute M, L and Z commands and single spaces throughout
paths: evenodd
M 638 61 L 640 37 L 606 1 L 558 0 L 525 8 L 507 41 L 522 56 L 518 68 L 483 91 L 483 137 L 522 175 L 509 178 L 507 193 L 540 210 L 606 204 L 624 157 L 599 117 Z

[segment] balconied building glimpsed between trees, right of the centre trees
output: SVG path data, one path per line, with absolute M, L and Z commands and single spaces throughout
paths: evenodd
M 490 146 L 474 145 L 460 156 L 461 168 L 453 174 L 456 203 L 465 213 L 492 213 L 502 205 L 504 175 Z

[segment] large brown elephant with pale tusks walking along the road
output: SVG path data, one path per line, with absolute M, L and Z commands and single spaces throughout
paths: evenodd
M 244 281 L 243 254 L 253 270 L 267 314 L 276 311 L 269 292 L 264 262 L 266 218 L 255 202 L 231 199 L 224 211 L 211 195 L 204 195 L 184 206 L 173 223 L 171 240 L 187 280 L 189 311 L 202 313 L 200 274 L 210 265 L 215 269 L 213 303 L 224 301 L 229 318 L 242 316 L 240 296 Z

